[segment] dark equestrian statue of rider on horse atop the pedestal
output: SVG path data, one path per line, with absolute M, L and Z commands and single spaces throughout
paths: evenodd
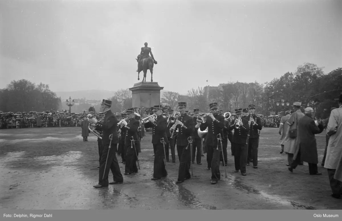
M 145 42 L 144 45 L 145 47 L 141 48 L 140 55 L 138 55 L 138 57 L 135 59 L 138 62 L 138 69 L 136 70 L 138 72 L 138 80 L 140 80 L 139 78 L 140 72 L 143 71 L 144 72 L 143 82 L 146 82 L 146 73 L 147 73 L 147 70 L 150 70 L 151 82 L 153 82 L 153 66 L 154 64 L 157 64 L 157 61 L 153 57 L 151 48 L 147 47 L 147 42 Z

